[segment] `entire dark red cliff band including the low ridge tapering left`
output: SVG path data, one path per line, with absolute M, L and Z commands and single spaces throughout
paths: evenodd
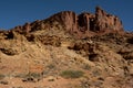
M 23 26 L 16 26 L 13 30 L 28 34 L 29 32 L 52 29 L 59 25 L 65 32 L 80 38 L 104 33 L 123 32 L 121 20 L 115 15 L 106 13 L 100 7 L 95 8 L 95 14 L 83 12 L 78 15 L 72 11 L 63 11 L 47 20 L 25 23 Z

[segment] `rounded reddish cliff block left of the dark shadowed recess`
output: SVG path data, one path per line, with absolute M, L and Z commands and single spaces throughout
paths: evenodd
M 78 16 L 72 11 L 63 11 L 54 14 L 50 18 L 51 21 L 58 21 L 62 25 L 64 25 L 66 31 L 74 31 L 78 29 Z

